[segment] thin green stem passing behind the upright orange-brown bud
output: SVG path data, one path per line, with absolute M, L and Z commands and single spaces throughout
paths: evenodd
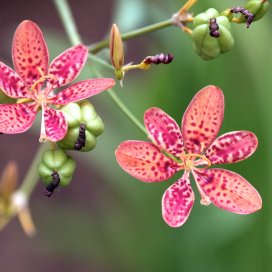
M 168 19 L 168 20 L 165 20 L 165 21 L 162 21 L 162 22 L 159 22 L 159 23 L 155 23 L 153 25 L 145 26 L 145 27 L 142 27 L 142 28 L 127 32 L 127 33 L 121 35 L 121 38 L 122 38 L 123 41 L 126 41 L 126 40 L 136 38 L 136 37 L 141 36 L 141 35 L 146 34 L 146 33 L 154 32 L 156 30 L 159 30 L 159 29 L 162 29 L 162 28 L 165 28 L 165 27 L 169 27 L 171 25 L 173 25 L 173 21 L 172 21 L 172 19 Z M 103 40 L 101 42 L 90 45 L 89 46 L 89 52 L 93 53 L 93 54 L 96 54 L 96 53 L 98 53 L 99 51 L 101 51 L 102 49 L 104 49 L 104 48 L 106 48 L 108 46 L 109 46 L 109 39 Z

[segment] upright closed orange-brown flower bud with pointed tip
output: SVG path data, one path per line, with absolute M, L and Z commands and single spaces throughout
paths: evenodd
M 115 68 L 116 77 L 123 78 L 122 67 L 124 65 L 124 47 L 121 34 L 116 24 L 112 25 L 110 33 L 110 58 Z

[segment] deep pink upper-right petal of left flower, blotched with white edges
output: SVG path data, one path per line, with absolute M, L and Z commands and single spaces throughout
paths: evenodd
M 73 46 L 57 56 L 49 66 L 49 74 L 55 78 L 48 80 L 58 88 L 73 81 L 83 68 L 88 57 L 88 48 L 82 44 Z

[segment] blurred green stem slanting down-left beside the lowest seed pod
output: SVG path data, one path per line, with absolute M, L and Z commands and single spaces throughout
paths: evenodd
M 46 144 L 40 144 L 34 159 L 26 173 L 22 185 L 19 188 L 19 191 L 23 192 L 26 196 L 30 196 L 33 189 L 35 188 L 37 182 L 39 181 L 39 175 L 37 172 L 38 164 L 41 160 L 42 153 L 46 150 Z

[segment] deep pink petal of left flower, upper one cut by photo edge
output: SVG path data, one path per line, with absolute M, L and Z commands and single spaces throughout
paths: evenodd
M 3 62 L 0 62 L 0 89 L 12 98 L 33 98 L 23 80 Z

